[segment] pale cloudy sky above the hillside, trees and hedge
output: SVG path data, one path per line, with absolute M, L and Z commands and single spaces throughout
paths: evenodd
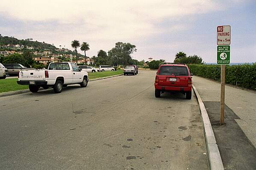
M 216 63 L 217 26 L 230 25 L 230 62 L 256 62 L 256 0 L 1 0 L 0 6 L 3 36 L 71 50 L 79 40 L 89 43 L 89 57 L 129 42 L 139 61 L 172 62 L 182 51 Z

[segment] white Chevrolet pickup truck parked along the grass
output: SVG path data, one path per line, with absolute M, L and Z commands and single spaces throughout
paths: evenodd
M 38 92 L 40 87 L 52 87 L 55 93 L 60 93 L 63 86 L 80 84 L 86 87 L 88 73 L 81 71 L 75 63 L 50 63 L 47 70 L 24 70 L 18 74 L 17 84 L 29 85 L 31 92 Z

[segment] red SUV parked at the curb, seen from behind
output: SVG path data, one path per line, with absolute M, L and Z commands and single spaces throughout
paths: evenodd
M 155 78 L 155 97 L 160 98 L 163 92 L 182 92 L 186 99 L 191 99 L 192 76 L 185 64 L 161 65 Z

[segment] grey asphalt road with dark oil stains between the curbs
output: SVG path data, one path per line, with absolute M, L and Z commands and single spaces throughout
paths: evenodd
M 195 96 L 155 73 L 0 98 L 0 170 L 208 170 Z

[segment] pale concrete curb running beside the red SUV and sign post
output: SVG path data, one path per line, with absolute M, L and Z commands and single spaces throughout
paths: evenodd
M 218 150 L 218 145 L 215 140 L 215 136 L 212 130 L 210 119 L 207 114 L 207 110 L 194 85 L 193 85 L 193 89 L 195 92 L 195 96 L 198 99 L 199 109 L 201 111 L 201 117 L 204 123 L 204 137 L 205 137 L 205 143 L 206 143 L 207 152 L 208 152 L 210 170 L 224 170 L 221 154 L 220 154 L 220 151 Z

